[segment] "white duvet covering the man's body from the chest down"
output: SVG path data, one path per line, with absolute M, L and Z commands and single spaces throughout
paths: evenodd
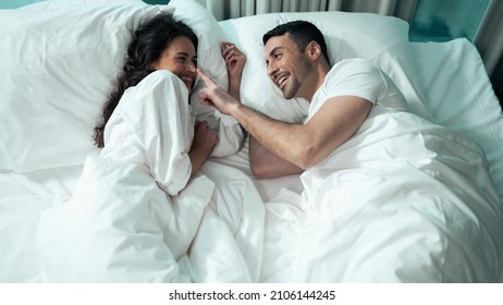
M 262 280 L 499 280 L 501 205 L 468 137 L 383 111 L 302 180 L 302 197 L 283 192 L 268 206 L 265 249 L 283 254 L 265 258 Z

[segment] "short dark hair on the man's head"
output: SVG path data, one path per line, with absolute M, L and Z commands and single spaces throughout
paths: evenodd
M 321 34 L 320 29 L 316 25 L 307 21 L 299 20 L 280 24 L 268 33 L 263 34 L 262 42 L 266 45 L 271 37 L 283 36 L 286 33 L 290 34 L 294 42 L 298 46 L 300 52 L 306 49 L 310 41 L 316 41 L 318 45 L 320 45 L 323 58 L 330 64 L 323 34 Z

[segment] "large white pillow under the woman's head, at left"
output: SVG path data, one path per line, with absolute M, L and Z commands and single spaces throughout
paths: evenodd
M 0 11 L 0 170 L 83 164 L 97 155 L 93 129 L 132 32 L 160 10 L 176 5 L 175 19 L 199 37 L 199 66 L 226 87 L 217 21 L 196 1 L 171 2 L 56 0 Z

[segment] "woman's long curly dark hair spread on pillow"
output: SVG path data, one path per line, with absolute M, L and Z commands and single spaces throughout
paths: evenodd
M 115 87 L 103 105 L 101 120 L 94 130 L 93 138 L 97 147 L 105 146 L 105 126 L 124 91 L 154 72 L 151 64 L 161 57 L 169 44 L 180 36 L 191 39 L 197 50 L 197 36 L 192 28 L 169 14 L 159 14 L 144 21 L 134 32 L 124 66 L 118 75 Z

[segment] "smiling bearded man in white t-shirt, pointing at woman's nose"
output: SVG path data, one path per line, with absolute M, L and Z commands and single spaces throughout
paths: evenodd
M 199 72 L 213 89 L 201 93 L 201 102 L 234 117 L 250 133 L 250 167 L 259 178 L 300 173 L 323 160 L 359 129 L 378 98 L 392 97 L 384 103 L 405 105 L 391 80 L 366 61 L 331 70 L 323 35 L 309 22 L 279 25 L 262 40 L 271 81 L 286 99 L 302 97 L 311 103 L 304 124 L 275 121 L 254 111 L 211 86 Z

